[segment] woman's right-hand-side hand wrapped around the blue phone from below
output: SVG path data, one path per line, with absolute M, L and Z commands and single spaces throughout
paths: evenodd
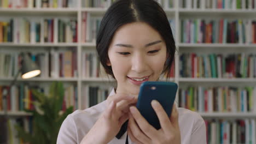
M 159 118 L 161 129 L 156 130 L 139 113 L 135 106 L 130 107 L 130 117 L 128 124 L 128 135 L 135 143 L 181 143 L 181 134 L 179 131 L 178 111 L 173 104 L 173 110 L 168 118 L 165 110 L 156 100 L 152 101 L 152 107 Z

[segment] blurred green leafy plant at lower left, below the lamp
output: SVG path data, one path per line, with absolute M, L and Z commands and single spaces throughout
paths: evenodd
M 53 82 L 50 86 L 49 95 L 38 92 L 32 89 L 35 100 L 33 104 L 37 109 L 25 110 L 32 113 L 33 117 L 33 134 L 27 133 L 22 127 L 16 125 L 18 136 L 29 143 L 47 143 L 55 144 L 57 135 L 64 119 L 69 113 L 72 113 L 73 107 L 68 107 L 65 112 L 60 114 L 64 87 L 62 82 Z

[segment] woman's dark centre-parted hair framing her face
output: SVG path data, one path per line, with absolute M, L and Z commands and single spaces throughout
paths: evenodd
M 176 46 L 165 11 L 154 0 L 119 0 L 114 2 L 104 14 L 97 34 L 96 50 L 106 73 L 115 78 L 112 67 L 107 65 L 108 48 L 115 32 L 119 27 L 132 22 L 146 22 L 164 39 L 168 59 L 162 73 L 169 75 Z

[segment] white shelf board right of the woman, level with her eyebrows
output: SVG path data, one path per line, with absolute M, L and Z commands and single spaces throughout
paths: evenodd
M 179 47 L 206 47 L 206 48 L 213 48 L 213 47 L 225 47 L 225 48 L 235 48 L 235 47 L 248 47 L 248 48 L 255 48 L 256 44 L 185 44 L 180 43 L 177 44 Z

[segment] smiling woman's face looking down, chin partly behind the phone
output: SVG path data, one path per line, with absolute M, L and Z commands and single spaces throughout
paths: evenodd
M 164 40 L 147 23 L 120 27 L 109 45 L 107 63 L 117 80 L 117 92 L 138 95 L 142 82 L 158 80 L 166 56 Z

